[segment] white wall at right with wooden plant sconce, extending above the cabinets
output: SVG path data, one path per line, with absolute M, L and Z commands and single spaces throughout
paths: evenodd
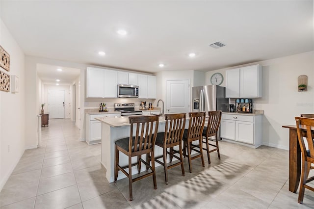
M 276 59 L 254 62 L 262 65 L 262 98 L 254 99 L 256 109 L 264 110 L 262 117 L 263 145 L 288 150 L 288 129 L 283 125 L 295 124 L 294 117 L 314 112 L 314 52 L 295 54 Z M 219 72 L 225 77 L 225 68 L 206 73 L 210 84 L 212 74 Z M 298 92 L 298 76 L 308 76 L 308 91 Z M 225 81 L 222 83 L 225 86 Z

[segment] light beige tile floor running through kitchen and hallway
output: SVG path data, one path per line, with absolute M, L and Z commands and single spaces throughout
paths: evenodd
M 157 168 L 152 178 L 133 183 L 129 201 L 127 179 L 108 183 L 100 164 L 101 147 L 78 141 L 79 130 L 68 119 L 50 120 L 42 128 L 43 146 L 26 150 L 0 192 L 1 209 L 295 209 L 314 208 L 314 192 L 306 190 L 304 204 L 288 191 L 288 151 L 262 146 L 252 149 L 220 142 L 221 160 L 211 164 L 192 160 L 169 170 L 164 183 Z

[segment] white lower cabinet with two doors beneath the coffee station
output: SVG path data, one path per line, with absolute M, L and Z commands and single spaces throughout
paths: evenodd
M 262 145 L 262 115 L 222 113 L 220 136 L 257 148 Z

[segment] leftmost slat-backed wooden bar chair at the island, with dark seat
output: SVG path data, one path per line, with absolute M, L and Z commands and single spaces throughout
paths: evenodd
M 130 137 L 123 138 L 115 141 L 115 169 L 114 169 L 114 182 L 117 182 L 118 171 L 122 171 L 129 178 L 130 201 L 132 201 L 132 183 L 141 180 L 145 177 L 153 176 L 154 188 L 157 189 L 156 171 L 155 171 L 155 157 L 154 147 L 158 131 L 159 115 L 153 116 L 134 116 L 129 117 L 130 122 Z M 154 128 L 155 126 L 155 128 Z M 134 130 L 135 131 L 134 131 Z M 119 165 L 119 152 L 129 157 L 129 164 L 126 166 Z M 142 159 L 142 155 L 147 154 L 151 156 L 152 166 Z M 137 157 L 137 162 L 131 162 L 132 157 Z M 139 177 L 132 179 L 132 166 L 137 165 L 138 173 L 141 170 L 141 163 L 150 168 L 152 172 L 146 173 Z M 129 169 L 129 173 L 125 169 Z

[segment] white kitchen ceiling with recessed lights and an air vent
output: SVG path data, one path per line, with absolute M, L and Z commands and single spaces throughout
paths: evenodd
M 206 72 L 314 50 L 313 0 L 1 0 L 0 6 L 27 55 L 97 66 Z M 129 34 L 120 37 L 119 28 Z M 226 46 L 209 47 L 216 41 Z

